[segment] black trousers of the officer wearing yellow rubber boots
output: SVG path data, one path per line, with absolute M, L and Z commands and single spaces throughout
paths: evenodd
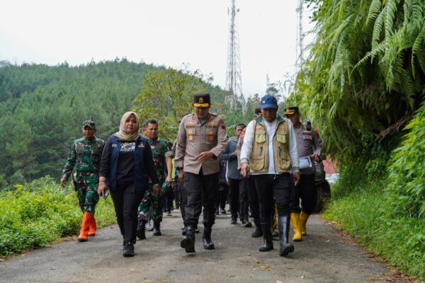
M 301 208 L 300 208 L 301 200 Z M 293 189 L 290 200 L 290 212 L 312 214 L 317 203 L 317 188 L 314 174 L 302 174 L 300 183 Z

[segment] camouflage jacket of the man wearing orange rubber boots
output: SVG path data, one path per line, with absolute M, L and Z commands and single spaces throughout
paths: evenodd
M 64 171 L 62 171 L 62 178 L 68 180 L 72 169 L 76 166 L 75 180 L 77 183 L 98 183 L 104 144 L 103 139 L 97 137 L 91 141 L 86 138 L 76 139 L 72 144 Z

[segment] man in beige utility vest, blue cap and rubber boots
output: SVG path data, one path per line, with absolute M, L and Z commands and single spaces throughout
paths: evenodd
M 292 180 L 300 181 L 297 140 L 292 122 L 277 115 L 278 103 L 274 96 L 261 98 L 261 113 L 246 127 L 241 150 L 241 173 L 254 178 L 260 202 L 261 230 L 263 245 L 260 251 L 273 249 L 271 235 L 271 212 L 273 197 L 278 207 L 280 256 L 294 251 L 289 243 L 290 193 Z

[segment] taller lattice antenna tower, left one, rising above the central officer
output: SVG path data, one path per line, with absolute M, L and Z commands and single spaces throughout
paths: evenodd
M 236 19 L 236 15 L 239 12 L 239 8 L 236 8 L 234 2 L 235 0 L 232 0 L 232 6 L 229 10 L 227 10 L 227 13 L 229 13 L 230 15 L 230 27 L 227 50 L 226 103 L 230 105 L 231 109 L 234 109 L 236 107 L 236 102 L 238 98 L 243 98 L 241 63 L 239 57 L 239 35 L 237 30 Z M 242 110 L 244 112 L 245 107 L 246 105 L 244 103 L 244 100 L 242 100 Z

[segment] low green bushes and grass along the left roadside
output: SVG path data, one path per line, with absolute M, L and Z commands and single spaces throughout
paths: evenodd
M 48 246 L 79 232 L 82 213 L 73 190 L 62 189 L 51 178 L 15 187 L 0 192 L 0 255 Z M 96 223 L 115 223 L 111 197 L 98 202 Z

